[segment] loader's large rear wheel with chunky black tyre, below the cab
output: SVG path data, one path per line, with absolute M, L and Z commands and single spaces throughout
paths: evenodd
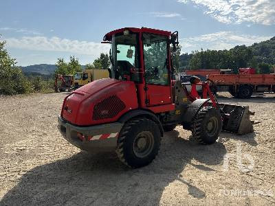
M 148 165 L 159 151 L 161 133 L 150 119 L 135 118 L 127 122 L 118 136 L 117 154 L 131 168 Z

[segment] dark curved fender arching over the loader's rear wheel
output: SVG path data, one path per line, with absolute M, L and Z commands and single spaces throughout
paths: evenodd
M 118 122 L 124 124 L 125 122 L 128 122 L 130 119 L 133 119 L 134 117 L 147 117 L 148 119 L 153 120 L 159 126 L 160 133 L 163 137 L 164 130 L 162 128 L 162 123 L 159 121 L 159 118 L 157 118 L 157 116 L 154 113 L 151 113 L 149 111 L 145 111 L 142 109 L 129 111 L 128 113 L 122 115 L 122 117 L 118 119 Z

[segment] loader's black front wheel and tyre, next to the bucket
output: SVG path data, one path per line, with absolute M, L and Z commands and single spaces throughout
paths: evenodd
M 213 144 L 221 133 L 221 113 L 213 107 L 202 107 L 191 125 L 192 136 L 201 144 Z

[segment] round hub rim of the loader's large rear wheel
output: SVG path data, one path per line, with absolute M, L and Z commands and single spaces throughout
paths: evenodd
M 139 158 L 147 157 L 153 150 L 154 136 L 149 131 L 139 133 L 133 141 L 133 152 Z

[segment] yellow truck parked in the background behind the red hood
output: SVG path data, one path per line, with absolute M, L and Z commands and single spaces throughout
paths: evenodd
M 103 78 L 109 78 L 108 69 L 85 69 L 83 72 L 77 72 L 74 75 L 74 89 Z

